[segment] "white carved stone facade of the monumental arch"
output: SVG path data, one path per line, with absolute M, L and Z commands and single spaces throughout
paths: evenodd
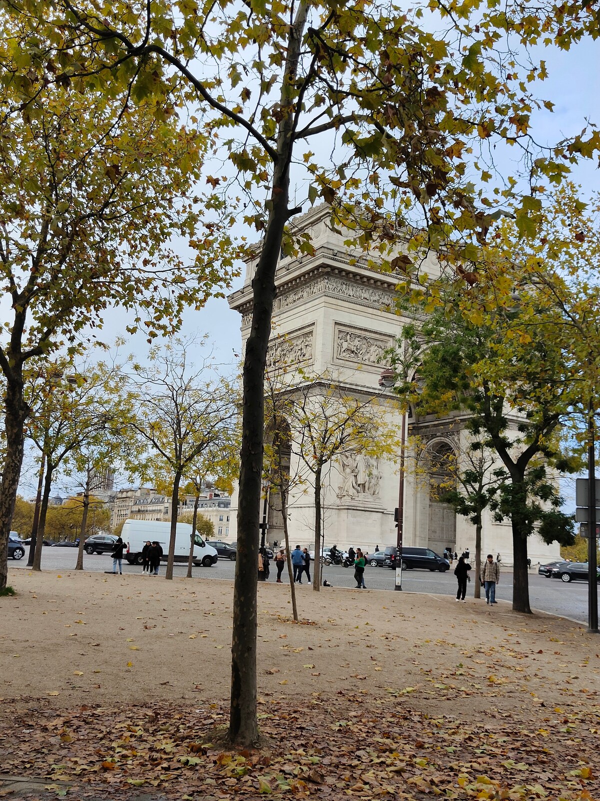
M 310 231 L 313 256 L 282 258 L 276 274 L 272 344 L 267 368 L 273 367 L 285 352 L 287 365 L 302 365 L 314 375 L 336 376 L 346 392 L 367 398 L 382 396 L 378 380 L 382 353 L 392 344 L 406 322 L 394 312 L 396 280 L 370 268 L 361 254 L 350 252 L 342 235 L 327 224 L 327 207 L 317 207 L 294 220 L 301 231 Z M 352 261 L 352 264 L 350 264 Z M 242 316 L 242 342 L 250 331 L 250 282 L 256 261 L 246 268 L 241 290 L 230 296 L 230 306 Z M 433 260 L 425 269 L 438 272 Z M 282 338 L 285 338 L 282 341 Z M 384 396 L 385 397 L 385 396 Z M 390 399 L 393 397 L 389 395 Z M 385 403 L 382 409 L 386 408 Z M 401 414 L 390 411 L 395 424 Z M 446 420 L 417 420 L 408 416 L 408 437 L 417 434 L 428 447 L 454 449 L 460 453 L 466 433 L 464 420 L 454 415 Z M 414 461 L 414 458 L 413 458 Z M 446 504 L 431 497 L 430 481 L 411 469 L 408 454 L 405 471 L 404 544 L 428 546 L 438 553 L 448 546 L 461 553 L 474 553 L 474 525 L 458 517 Z M 292 472 L 294 448 L 292 447 Z M 379 461 L 377 465 L 350 464 L 340 457 L 330 465 L 323 487 L 322 524 L 325 545 L 361 546 L 372 552 L 375 545 L 396 544 L 394 509 L 398 506 L 398 463 Z M 289 525 L 293 545 L 310 545 L 314 540 L 313 487 L 290 492 Z M 232 498 L 230 540 L 236 537 L 237 497 Z M 266 539 L 282 540 L 282 530 L 270 512 Z M 537 537 L 529 543 L 532 562 L 558 556 L 558 545 L 547 546 Z M 482 550 L 502 554 L 512 562 L 510 522 L 496 523 L 487 515 L 482 532 Z

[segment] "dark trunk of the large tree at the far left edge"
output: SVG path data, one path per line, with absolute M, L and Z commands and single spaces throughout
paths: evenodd
M 0 590 L 6 587 L 8 577 L 8 536 L 13 521 L 14 501 L 23 461 L 23 426 L 29 409 L 23 398 L 22 368 L 14 368 L 6 381 L 4 429 L 6 457 L 0 480 Z

